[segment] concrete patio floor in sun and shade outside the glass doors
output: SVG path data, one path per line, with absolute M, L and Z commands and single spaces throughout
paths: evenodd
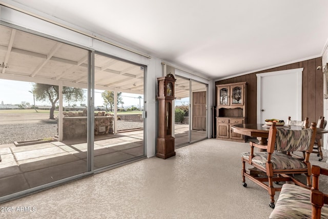
M 192 141 L 206 137 L 193 130 Z M 86 139 L 16 147 L 0 145 L 0 197 L 87 172 Z M 189 125 L 175 126 L 175 145 L 189 142 Z M 98 135 L 94 141 L 94 169 L 144 155 L 144 131 Z

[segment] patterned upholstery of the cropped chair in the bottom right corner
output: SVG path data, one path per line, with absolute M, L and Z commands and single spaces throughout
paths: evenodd
M 283 184 L 270 219 L 311 219 L 310 190 L 292 184 Z M 321 218 L 328 218 L 328 206 L 321 208 Z

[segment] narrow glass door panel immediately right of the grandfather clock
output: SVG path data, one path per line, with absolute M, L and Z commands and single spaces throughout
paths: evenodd
M 190 142 L 189 128 L 189 93 L 190 81 L 176 76 L 175 82 L 175 124 L 174 137 L 175 146 L 187 144 Z

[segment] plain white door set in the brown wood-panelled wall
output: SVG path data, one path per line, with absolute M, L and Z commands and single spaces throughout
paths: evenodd
M 302 118 L 303 68 L 256 74 L 257 123 L 277 118 L 286 121 Z

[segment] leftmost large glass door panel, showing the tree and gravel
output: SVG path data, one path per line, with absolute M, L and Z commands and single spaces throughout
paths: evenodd
M 0 32 L 2 197 L 87 172 L 88 50 Z

